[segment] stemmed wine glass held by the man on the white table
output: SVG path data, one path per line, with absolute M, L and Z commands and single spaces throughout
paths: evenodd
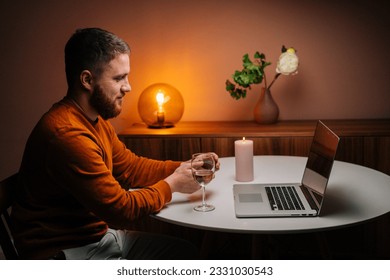
M 205 200 L 205 186 L 214 178 L 215 161 L 211 153 L 197 153 L 192 155 L 191 171 L 195 181 L 202 187 L 202 204 L 194 208 L 196 211 L 208 212 L 215 209 L 213 205 L 207 204 Z

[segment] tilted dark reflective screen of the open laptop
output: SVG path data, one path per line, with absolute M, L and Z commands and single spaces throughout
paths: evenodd
M 303 188 L 307 188 L 304 193 L 310 194 L 317 209 L 323 202 L 338 143 L 339 137 L 318 121 L 302 179 Z

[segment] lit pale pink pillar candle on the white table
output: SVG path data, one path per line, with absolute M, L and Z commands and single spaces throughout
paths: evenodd
M 253 180 L 253 141 L 242 140 L 234 142 L 236 159 L 236 181 L 249 182 Z

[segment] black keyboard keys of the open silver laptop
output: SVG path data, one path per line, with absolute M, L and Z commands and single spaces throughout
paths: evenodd
M 265 187 L 272 210 L 305 210 L 293 186 Z

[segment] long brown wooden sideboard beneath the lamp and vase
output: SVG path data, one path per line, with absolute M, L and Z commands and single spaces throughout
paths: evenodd
M 340 136 L 337 160 L 367 166 L 390 175 L 390 119 L 324 120 Z M 255 155 L 307 156 L 316 121 L 280 121 L 259 125 L 251 121 L 179 122 L 172 128 L 148 128 L 136 123 L 118 134 L 138 155 L 187 160 L 196 152 L 234 156 L 234 141 L 253 140 Z

